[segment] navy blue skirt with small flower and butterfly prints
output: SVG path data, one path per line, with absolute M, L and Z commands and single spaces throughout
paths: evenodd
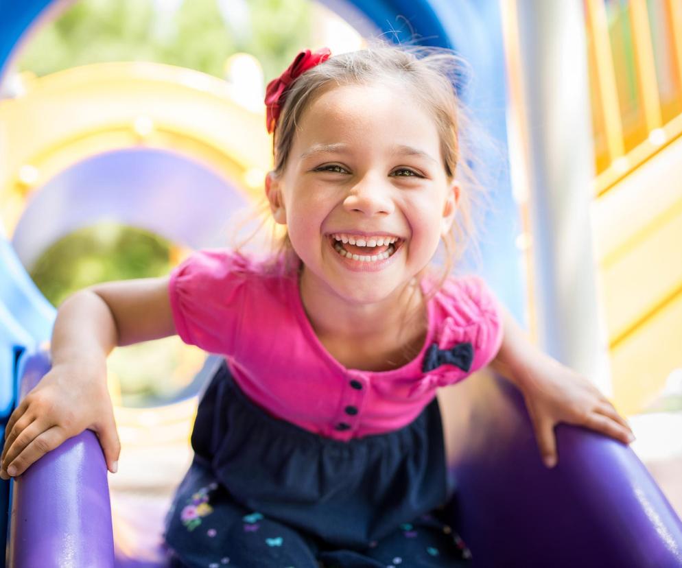
M 195 458 L 167 515 L 175 566 L 468 566 L 446 500 L 434 399 L 410 424 L 349 442 L 274 418 L 226 366 L 207 388 Z

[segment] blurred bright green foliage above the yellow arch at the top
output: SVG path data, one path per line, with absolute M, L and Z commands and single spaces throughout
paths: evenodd
M 226 21 L 217 0 L 181 1 L 175 12 L 156 8 L 161 1 L 81 0 L 31 38 L 19 69 L 42 76 L 95 62 L 155 61 L 222 78 L 228 57 L 246 52 L 267 80 L 309 45 L 310 2 L 244 3 L 248 19 L 240 24 Z

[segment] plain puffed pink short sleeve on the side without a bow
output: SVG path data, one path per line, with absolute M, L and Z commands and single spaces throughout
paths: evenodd
M 170 304 L 183 342 L 233 355 L 249 274 L 248 259 L 226 250 L 195 252 L 171 272 Z

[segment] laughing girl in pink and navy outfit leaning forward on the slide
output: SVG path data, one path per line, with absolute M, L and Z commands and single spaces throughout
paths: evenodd
M 453 252 L 470 215 L 452 57 L 382 45 L 299 54 L 266 97 L 281 252 L 197 252 L 167 278 L 71 296 L 53 367 L 8 423 L 1 475 L 21 475 L 85 428 L 115 472 L 106 355 L 174 333 L 226 359 L 167 517 L 177 565 L 466 563 L 438 518 L 435 396 L 491 363 L 524 393 L 549 466 L 559 421 L 631 441 L 610 403 L 537 351 L 481 279 L 427 268 L 440 239 Z

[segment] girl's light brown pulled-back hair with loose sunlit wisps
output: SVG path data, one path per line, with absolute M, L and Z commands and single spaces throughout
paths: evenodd
M 449 49 L 396 46 L 373 40 L 366 49 L 332 56 L 296 79 L 285 93 L 285 103 L 274 131 L 274 172 L 281 175 L 301 116 L 322 88 L 373 84 L 383 80 L 399 80 L 401 84 L 412 88 L 416 100 L 430 111 L 436 121 L 448 181 L 456 177 L 462 185 L 455 222 L 451 231 L 443 237 L 443 271 L 426 299 L 440 289 L 465 248 L 469 244 L 476 246 L 473 237 L 487 202 L 482 185 L 473 175 L 471 156 L 467 151 L 467 140 L 472 139 L 471 132 L 468 132 L 468 136 L 460 135 L 460 132 L 467 132 L 471 128 L 471 121 L 456 94 L 456 87 L 466 76 L 467 68 L 462 60 Z M 263 209 L 266 208 L 267 204 L 264 204 Z M 279 252 L 277 257 L 286 255 L 288 259 L 296 259 L 288 235 L 284 233 L 275 240 L 274 250 Z M 478 258 L 478 247 L 475 253 Z

